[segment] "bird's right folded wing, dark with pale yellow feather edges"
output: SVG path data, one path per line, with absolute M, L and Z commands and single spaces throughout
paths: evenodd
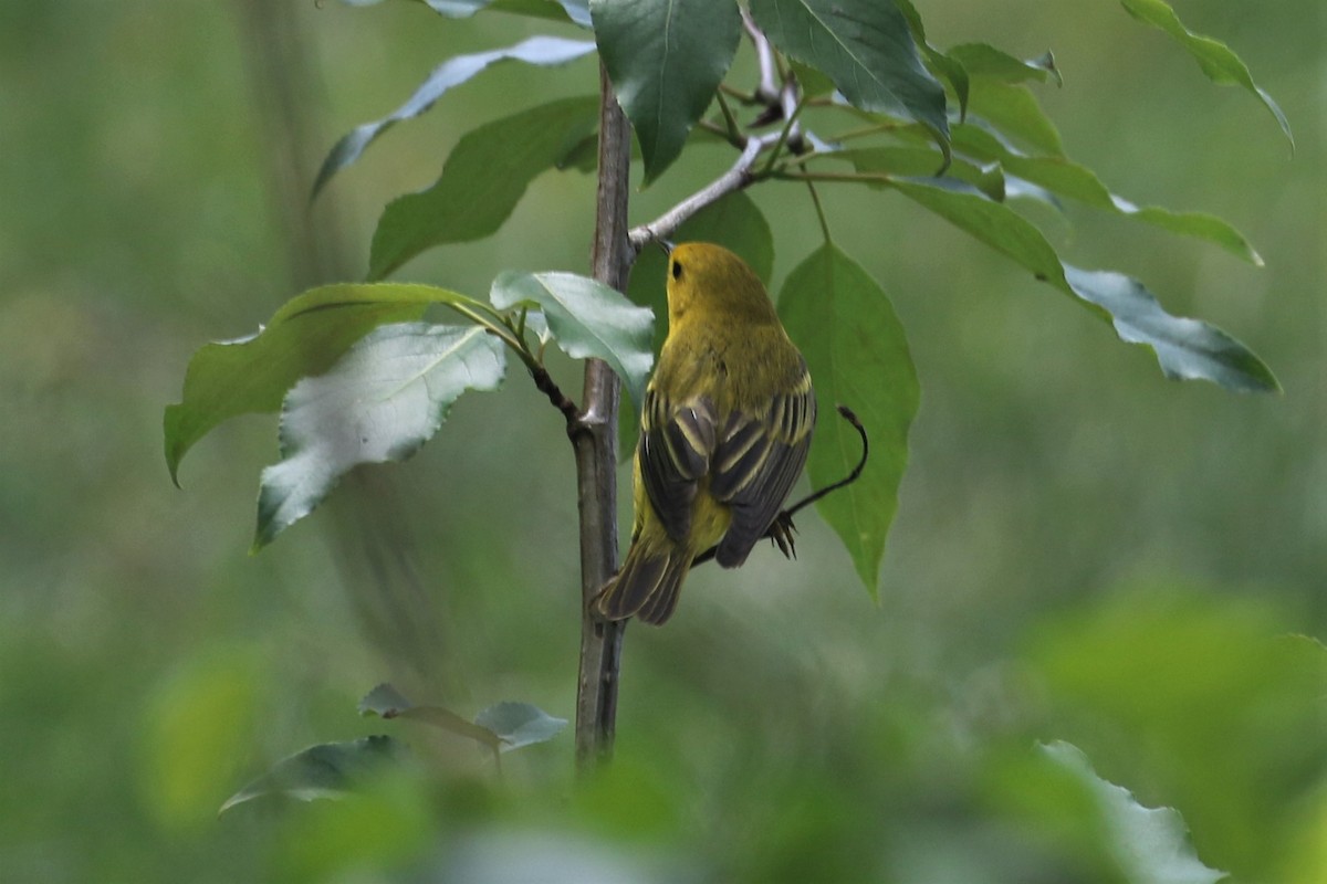
M 792 490 L 811 448 L 816 395 L 803 364 L 788 392 L 758 414 L 735 411 L 725 423 L 711 459 L 710 493 L 733 508 L 715 555 L 719 565 L 742 565 Z

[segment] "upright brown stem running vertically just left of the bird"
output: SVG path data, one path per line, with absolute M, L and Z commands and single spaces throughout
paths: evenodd
M 630 130 L 600 65 L 598 193 L 592 252 L 594 278 L 625 290 L 630 270 L 626 204 Z M 581 651 L 576 691 L 576 762 L 583 771 L 613 750 L 617 683 L 626 623 L 592 614 L 591 600 L 617 570 L 617 375 L 604 362 L 585 363 L 584 411 L 572 433 L 581 539 Z

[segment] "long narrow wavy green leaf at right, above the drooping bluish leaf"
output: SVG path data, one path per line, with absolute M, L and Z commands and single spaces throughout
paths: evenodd
M 998 162 L 1011 175 L 1046 190 L 1085 203 L 1092 208 L 1123 215 L 1172 233 L 1206 240 L 1254 266 L 1262 256 L 1253 244 L 1225 220 L 1205 212 L 1174 212 L 1160 205 L 1139 207 L 1112 193 L 1085 166 L 1063 156 L 1027 156 L 974 123 L 954 126 L 954 146 L 983 162 Z

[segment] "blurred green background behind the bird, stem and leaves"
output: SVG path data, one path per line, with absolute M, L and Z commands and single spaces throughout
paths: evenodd
M 1027 753 L 1058 738 L 1177 807 L 1209 865 L 1327 880 L 1327 680 L 1322 648 L 1287 637 L 1327 636 L 1327 11 L 1176 4 L 1278 99 L 1290 156 L 1254 98 L 1112 0 L 918 5 L 942 46 L 1054 49 L 1066 85 L 1039 97 L 1071 156 L 1251 239 L 1265 269 L 1087 211 L 1050 227 L 1071 262 L 1245 341 L 1286 392 L 1166 382 L 937 219 L 827 188 L 922 383 L 880 603 L 815 517 L 795 563 L 698 571 L 667 628 L 629 630 L 618 763 L 576 790 L 569 733 L 499 783 L 468 746 L 354 713 L 393 680 L 467 716 L 508 698 L 572 716 L 572 464 L 519 370 L 252 558 L 275 419 L 212 433 L 176 490 L 161 416 L 198 346 L 360 277 L 381 207 L 431 183 L 462 134 L 587 94 L 596 70 L 495 68 L 305 213 L 337 137 L 451 54 L 577 33 L 414 4 L 7 0 L 0 880 L 539 880 L 525 859 L 541 880 L 1117 877 Z M 693 148 L 633 219 L 730 162 Z M 483 294 L 506 268 L 584 272 L 592 195 L 545 175 L 498 236 L 397 276 Z M 819 231 L 804 191 L 754 197 L 776 289 Z M 384 730 L 442 759 L 435 787 L 216 818 L 275 759 Z

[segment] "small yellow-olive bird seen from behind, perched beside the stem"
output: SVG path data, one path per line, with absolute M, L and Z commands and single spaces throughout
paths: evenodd
M 645 392 L 636 521 L 596 598 L 609 620 L 664 623 L 691 561 L 742 565 L 807 463 L 816 398 L 760 278 L 709 243 L 669 256 L 669 334 Z

